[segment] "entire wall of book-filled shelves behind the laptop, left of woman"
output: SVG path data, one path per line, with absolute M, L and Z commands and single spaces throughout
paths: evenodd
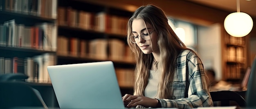
M 6 1 L 8 3 L 5 3 Z M 7 58 L 10 65 L 13 59 L 22 58 L 26 69 L 24 73 L 29 72 L 27 68 L 31 68 L 34 73 L 33 69 L 37 67 L 25 66 L 34 61 L 40 64 L 37 64 L 41 66 L 38 68 L 40 71 L 35 71 L 34 75 L 27 74 L 33 77 L 27 81 L 39 90 L 48 107 L 58 107 L 49 77 L 46 75 L 47 77 L 44 76 L 42 80 L 38 79 L 40 74 L 47 73 L 45 67 L 48 65 L 113 61 L 115 68 L 118 69 L 122 94 L 132 94 L 132 71 L 135 68 L 135 61 L 126 43 L 126 24 L 132 12 L 80 0 L 28 0 L 29 2 L 17 6 L 12 5 L 11 1 L 14 0 L 0 0 L 0 15 L 4 16 L 0 17 L 0 66 L 5 64 Z M 6 30 L 5 33 L 2 32 L 3 28 L 6 29 L 4 24 L 8 25 L 9 29 L 9 22 L 12 22 L 11 26 L 17 28 L 13 29 L 14 32 L 17 31 L 13 33 L 15 36 L 10 35 L 10 38 Z M 50 29 L 45 30 L 48 26 Z M 35 31 L 36 29 L 38 31 Z M 26 31 L 26 34 L 18 31 Z M 49 39 L 42 37 L 39 31 L 48 31 L 49 33 L 44 35 L 50 36 L 46 37 Z M 23 36 L 18 37 L 21 36 L 19 34 Z M 60 41 L 61 37 L 67 40 L 66 43 Z M 29 40 L 23 42 L 25 39 Z M 48 45 L 45 46 L 46 44 Z M 66 48 L 63 49 L 64 45 Z M 103 56 L 95 57 L 98 54 Z M 42 60 L 50 60 L 50 63 L 42 63 Z M 4 72 L 2 68 L 0 71 Z M 126 78 L 127 75 L 129 78 Z

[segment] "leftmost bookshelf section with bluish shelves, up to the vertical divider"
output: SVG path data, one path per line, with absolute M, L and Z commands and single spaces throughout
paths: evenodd
M 56 0 L 0 0 L 0 74 L 28 75 L 48 107 L 56 104 L 46 69 L 56 65 L 56 6 Z

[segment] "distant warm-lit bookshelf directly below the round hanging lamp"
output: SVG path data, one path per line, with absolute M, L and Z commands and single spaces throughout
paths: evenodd
M 247 37 L 225 35 L 225 53 L 223 53 L 223 79 L 239 83 L 243 79 L 247 64 Z

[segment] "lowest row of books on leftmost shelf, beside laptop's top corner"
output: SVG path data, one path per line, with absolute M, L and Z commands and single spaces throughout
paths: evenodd
M 51 83 L 47 66 L 55 65 L 55 55 L 45 53 L 34 57 L 0 57 L 0 74 L 23 73 L 29 76 L 27 82 Z

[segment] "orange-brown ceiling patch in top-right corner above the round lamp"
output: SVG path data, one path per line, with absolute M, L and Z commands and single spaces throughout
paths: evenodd
M 189 0 L 198 4 L 218 8 L 225 11 L 237 12 L 236 0 Z M 256 0 L 240 0 L 240 12 L 256 18 Z

